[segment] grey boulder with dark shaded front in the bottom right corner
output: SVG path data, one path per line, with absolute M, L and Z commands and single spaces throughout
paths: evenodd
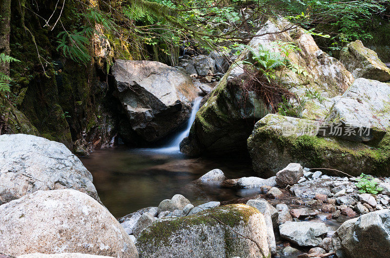
M 370 212 L 344 222 L 332 237 L 337 257 L 387 257 L 390 210 Z

